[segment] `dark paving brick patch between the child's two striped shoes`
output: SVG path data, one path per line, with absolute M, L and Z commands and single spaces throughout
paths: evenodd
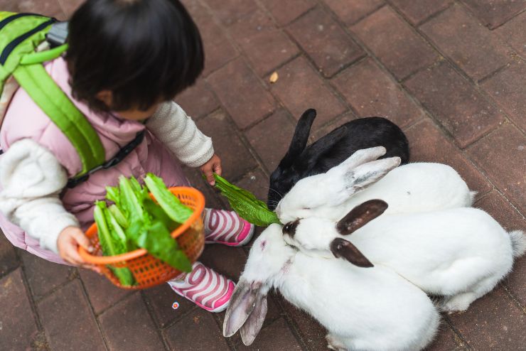
M 247 254 L 242 247 L 207 244 L 199 261 L 236 282 L 247 262 Z

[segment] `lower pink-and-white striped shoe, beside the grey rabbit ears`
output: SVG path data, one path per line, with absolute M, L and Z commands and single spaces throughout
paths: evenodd
M 193 264 L 190 273 L 178 276 L 168 284 L 178 295 L 210 312 L 225 311 L 235 288 L 233 281 L 200 262 Z

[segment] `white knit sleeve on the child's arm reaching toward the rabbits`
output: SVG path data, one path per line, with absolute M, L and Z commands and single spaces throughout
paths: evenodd
M 202 166 L 214 155 L 212 139 L 175 102 L 161 104 L 146 127 L 186 166 Z

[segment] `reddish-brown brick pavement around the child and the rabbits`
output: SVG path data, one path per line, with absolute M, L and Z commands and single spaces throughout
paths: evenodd
M 79 0 L 0 0 L 0 9 L 67 18 Z M 412 161 L 456 168 L 476 206 L 504 227 L 526 221 L 526 1 L 185 0 L 206 70 L 176 99 L 215 140 L 225 175 L 266 195 L 299 114 L 315 136 L 380 115 L 402 126 Z M 278 72 L 279 80 L 269 83 Z M 208 204 L 225 202 L 188 176 Z M 203 261 L 237 278 L 248 248 L 211 246 Z M 171 303 L 181 307 L 173 311 Z M 220 334 L 163 285 L 120 291 L 50 264 L 0 236 L 1 350 L 323 350 L 324 330 L 280 296 L 252 347 Z M 526 259 L 466 313 L 444 316 L 429 350 L 526 350 Z

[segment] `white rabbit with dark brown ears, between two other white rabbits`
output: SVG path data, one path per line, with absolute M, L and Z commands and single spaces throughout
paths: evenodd
M 313 217 L 296 220 L 283 228 L 284 239 L 307 254 L 343 257 L 358 266 L 364 257 L 360 260 L 356 252 L 362 252 L 372 264 L 394 269 L 426 293 L 444 296 L 442 308 L 450 312 L 466 310 L 491 291 L 526 250 L 523 232 L 506 232 L 483 210 L 380 216 L 386 209 L 386 202 L 370 200 L 337 224 Z

